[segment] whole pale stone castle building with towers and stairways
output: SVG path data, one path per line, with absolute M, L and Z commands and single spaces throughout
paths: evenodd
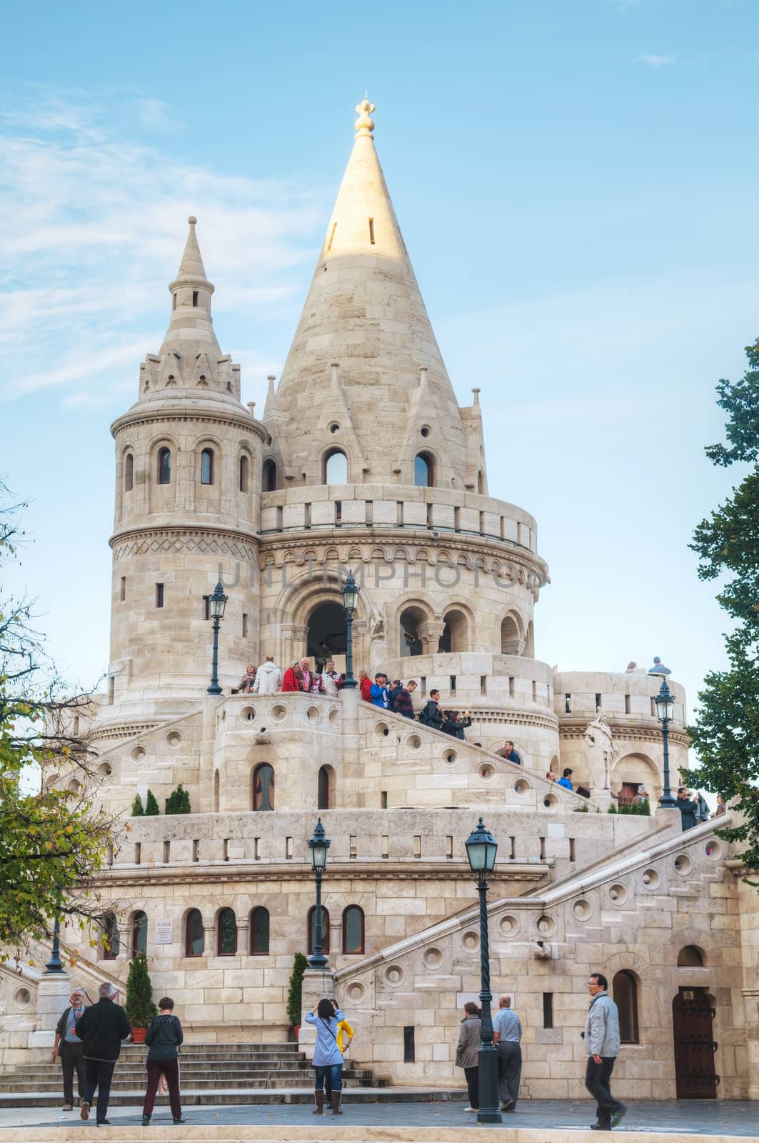
M 113 425 L 112 650 L 94 722 L 97 797 L 128 815 L 136 793 L 152 790 L 162 808 L 181 782 L 192 813 L 131 820 L 99 879 L 104 911 L 120 927 L 117 958 L 93 952 L 90 934 L 65 933 L 66 946 L 90 984 L 123 986 L 134 914 L 144 912 L 154 992 L 174 997 L 192 1037 L 283 1034 L 320 815 L 331 839 L 323 901 L 334 978 L 309 988 L 334 989 L 355 1026 L 354 1060 L 399 1085 L 461 1085 L 461 1007 L 479 992 L 464 841 L 481 814 L 500 844 L 492 978 L 496 994 L 513 994 L 525 1025 L 525 1094 L 583 1090 L 578 1031 L 597 969 L 609 980 L 625 973 L 637 989 L 637 1042 L 623 1046 L 615 1073 L 621 1095 L 674 1095 L 672 1000 L 703 988 L 713 998 L 718 1096 L 756 1097 L 759 912 L 728 847 L 710 823 L 681 833 L 677 812 L 610 815 L 608 792 L 594 788 L 588 800 L 546 780 L 572 767 L 575 784 L 591 785 L 585 733 L 600 709 L 615 746 L 612 790 L 645 783 L 655 805 L 661 679 L 554 673 L 535 657 L 534 610 L 548 583 L 537 525 L 488 495 L 479 391 L 458 408 L 370 123 L 361 106 L 263 421 L 240 403 L 239 369 L 216 341 L 191 219 L 163 345 Z M 342 482 L 328 483 L 336 449 Z M 420 456 L 425 486 L 415 482 Z M 248 662 L 273 655 L 286 668 L 309 652 L 314 612 L 339 604 L 349 568 L 360 584 L 354 666 L 416 679 L 417 706 L 439 688 L 444 706 L 472 712 L 468 742 L 369 706 L 355 690 L 230 694 Z M 219 577 L 229 602 L 225 694 L 216 698 L 206 694 L 203 597 Z M 682 688 L 671 687 L 677 786 L 686 710 Z M 521 767 L 502 757 L 506 738 Z M 261 766 L 273 769 L 272 810 L 256 808 Z M 351 906 L 362 911 L 359 951 L 343 949 Z M 234 911 L 237 951 L 219 954 L 223 909 Z M 256 909 L 269 913 L 266 951 L 251 944 Z M 191 910 L 203 948 L 190 956 Z M 694 948 L 702 964 L 678 966 Z M 19 984 L 0 968 L 0 1049 L 13 1065 L 42 1050 L 53 1001 L 35 969 Z

